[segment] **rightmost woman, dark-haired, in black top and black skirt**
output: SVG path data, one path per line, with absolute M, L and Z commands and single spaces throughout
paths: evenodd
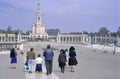
M 77 65 L 77 59 L 76 59 L 76 52 L 75 52 L 75 48 L 73 46 L 70 47 L 69 49 L 69 66 L 71 69 L 71 72 L 75 71 L 75 66 Z

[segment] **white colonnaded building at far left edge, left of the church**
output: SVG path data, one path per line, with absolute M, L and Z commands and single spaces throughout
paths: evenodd
M 0 33 L 0 49 L 20 48 L 22 44 L 20 33 Z

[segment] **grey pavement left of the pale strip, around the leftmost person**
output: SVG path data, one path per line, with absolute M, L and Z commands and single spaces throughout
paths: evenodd
M 24 74 L 24 65 L 21 64 L 23 59 L 18 57 L 16 69 L 11 68 L 9 54 L 0 54 L 0 79 L 26 79 Z

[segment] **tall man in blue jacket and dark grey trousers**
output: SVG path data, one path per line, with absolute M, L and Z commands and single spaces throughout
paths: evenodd
M 50 45 L 47 45 L 47 49 L 43 52 L 43 56 L 45 57 L 45 65 L 47 70 L 47 75 L 52 74 L 52 65 L 53 65 L 53 56 L 54 52 L 51 49 Z

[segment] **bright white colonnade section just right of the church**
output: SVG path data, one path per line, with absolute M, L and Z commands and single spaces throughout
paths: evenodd
M 59 43 L 76 43 L 76 44 L 88 44 L 90 37 L 87 34 L 73 34 L 63 33 L 57 35 L 57 42 Z

